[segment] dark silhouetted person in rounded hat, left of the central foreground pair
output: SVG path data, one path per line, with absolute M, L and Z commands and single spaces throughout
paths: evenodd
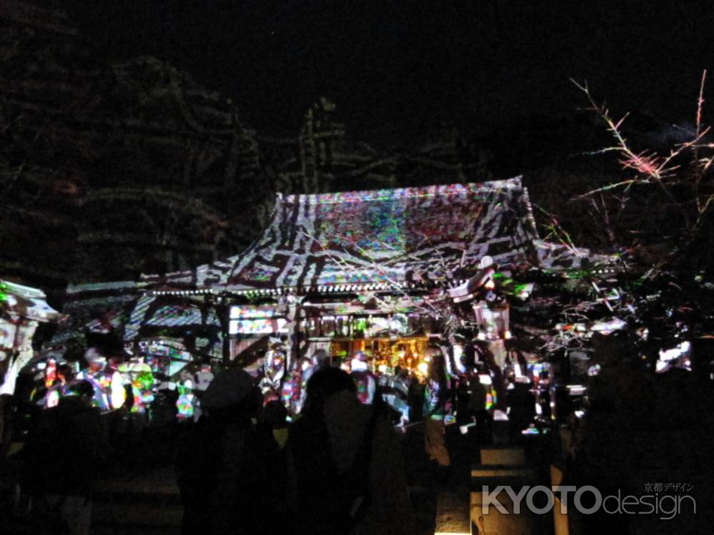
M 202 405 L 201 418 L 178 446 L 181 533 L 283 532 L 278 446 L 254 424 L 262 406 L 260 389 L 248 372 L 229 368 L 213 379 Z

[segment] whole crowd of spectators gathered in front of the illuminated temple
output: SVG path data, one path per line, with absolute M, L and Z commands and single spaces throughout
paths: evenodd
M 442 481 L 451 465 L 447 424 L 455 421 L 477 442 L 490 440 L 495 390 L 476 370 L 450 374 L 436 346 L 421 382 L 399 367 L 374 372 L 364 352 L 338 363 L 318 350 L 286 370 L 278 344 L 257 377 L 206 363 L 183 370 L 174 389 L 153 378 L 149 384 L 138 359 L 86 360 L 79 374 L 68 365 L 46 370 L 52 383 L 34 393 L 46 409 L 23 453 L 24 493 L 39 518 L 61 521 L 71 533 L 88 532 L 94 467 L 117 440 L 107 414 L 131 422 L 151 412 L 155 423 L 183 424 L 176 474 L 186 534 L 411 533 L 399 432 L 423 422 L 425 452 Z M 527 395 L 513 389 L 511 401 L 516 393 Z M 508 412 L 523 427 L 531 402 L 516 401 Z M 61 452 L 61 463 L 46 462 L 50 451 Z

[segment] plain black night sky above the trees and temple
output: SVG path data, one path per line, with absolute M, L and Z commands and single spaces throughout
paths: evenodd
M 107 58 L 169 61 L 283 135 L 319 96 L 368 141 L 410 143 L 435 121 L 488 133 L 572 114 L 570 77 L 619 111 L 683 121 L 712 64 L 714 9 L 698 2 L 57 1 Z

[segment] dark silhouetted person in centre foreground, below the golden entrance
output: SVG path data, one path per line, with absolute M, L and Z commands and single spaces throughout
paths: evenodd
M 338 368 L 316 371 L 288 438 L 294 531 L 413 534 L 401 449 L 386 415 L 362 404 Z

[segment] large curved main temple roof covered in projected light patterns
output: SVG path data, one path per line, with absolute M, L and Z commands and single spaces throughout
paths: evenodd
M 538 238 L 521 178 L 279 195 L 248 250 L 162 282 L 226 290 L 331 287 L 468 275 L 483 256 L 521 263 Z M 159 282 L 145 277 L 146 282 Z

